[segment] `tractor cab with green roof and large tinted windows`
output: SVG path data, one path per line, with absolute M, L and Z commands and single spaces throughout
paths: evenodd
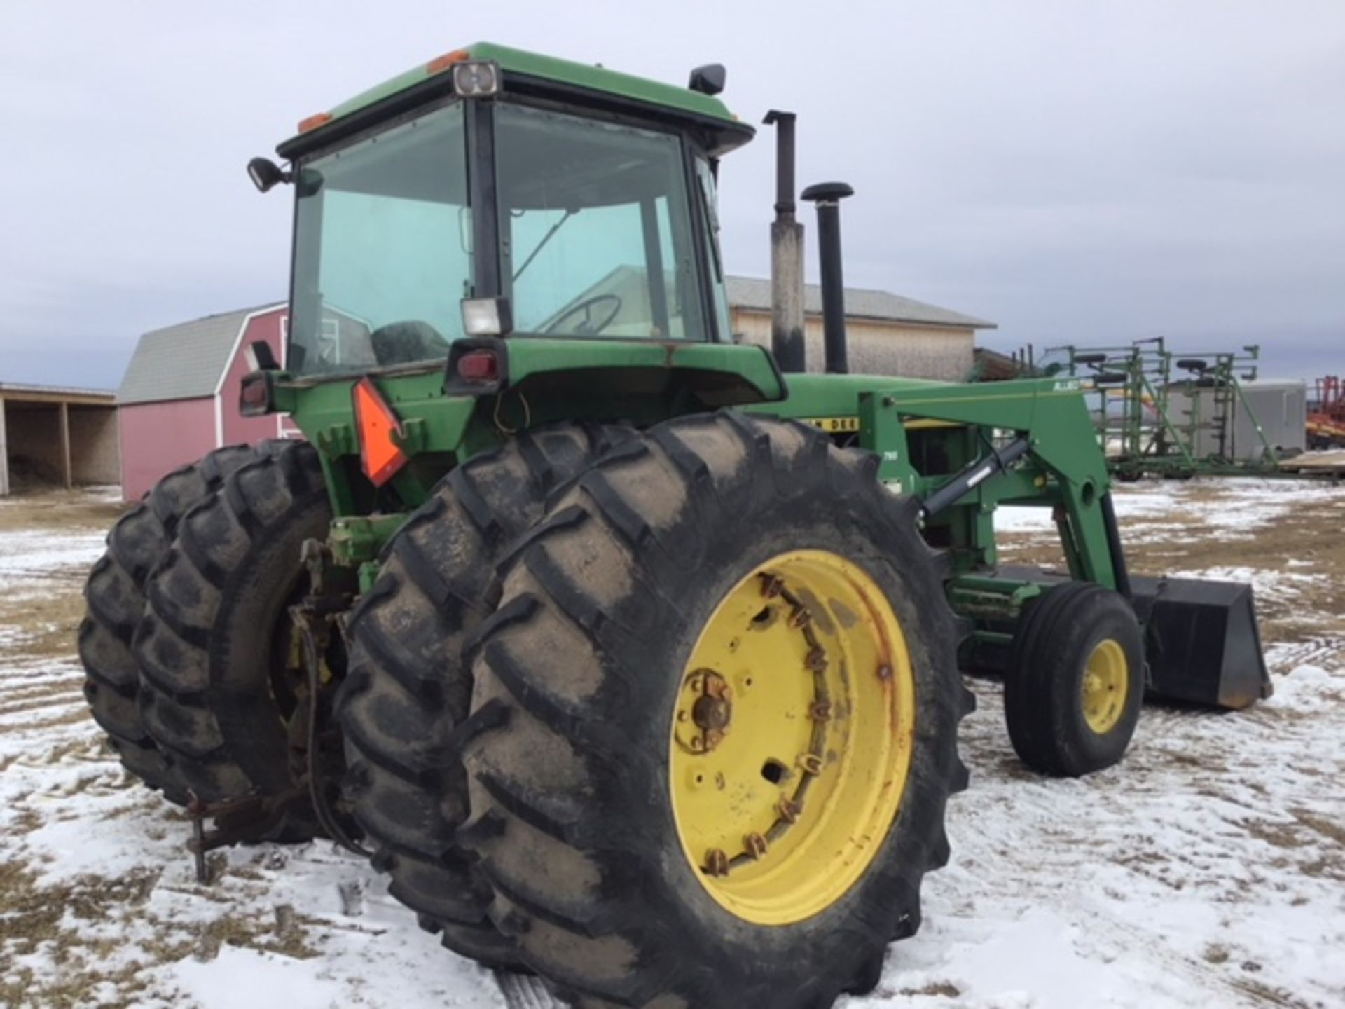
M 253 171 L 296 190 L 286 370 L 433 370 L 464 336 L 728 342 L 714 170 L 753 130 L 720 85 L 480 44 L 305 120 L 291 171 Z

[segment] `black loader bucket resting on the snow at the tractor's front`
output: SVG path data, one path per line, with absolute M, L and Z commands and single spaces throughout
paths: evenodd
M 1271 696 L 1251 585 L 1135 576 L 1132 591 L 1150 697 L 1245 708 Z

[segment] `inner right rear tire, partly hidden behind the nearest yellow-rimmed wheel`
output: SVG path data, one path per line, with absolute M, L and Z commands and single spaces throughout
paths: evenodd
M 486 916 L 453 834 L 467 818 L 455 748 L 471 674 L 463 643 L 495 609 L 496 564 L 623 426 L 558 424 L 525 431 L 453 470 L 389 544 L 378 581 L 347 624 L 350 670 L 338 698 L 350 770 L 346 796 L 389 892 L 444 946 L 488 966 L 518 966 Z

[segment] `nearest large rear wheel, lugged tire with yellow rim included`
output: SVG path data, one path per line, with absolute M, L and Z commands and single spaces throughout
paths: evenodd
M 576 1005 L 829 1006 L 919 927 L 971 696 L 876 463 L 791 421 L 674 420 L 516 550 L 473 648 L 459 839 Z

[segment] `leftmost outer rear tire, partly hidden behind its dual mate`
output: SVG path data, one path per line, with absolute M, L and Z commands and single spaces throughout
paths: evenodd
M 174 779 L 136 708 L 140 670 L 132 639 L 145 612 L 145 580 L 168 553 L 178 522 L 252 459 L 247 445 L 229 445 L 164 476 L 117 519 L 108 534 L 108 550 L 85 584 L 87 611 L 79 624 L 79 658 L 94 721 L 108 733 L 121 765 L 178 805 L 186 805 L 186 790 Z

